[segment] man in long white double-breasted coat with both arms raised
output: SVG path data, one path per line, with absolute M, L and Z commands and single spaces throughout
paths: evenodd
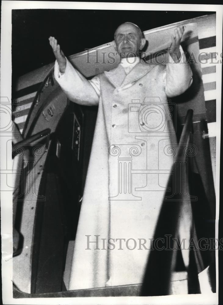
M 49 38 L 55 78 L 67 97 L 81 105 L 99 105 L 70 290 L 142 283 L 173 164 L 167 148 L 177 143 L 167 98 L 192 83 L 180 46 L 183 32 L 178 27 L 171 37 L 167 64 L 154 65 L 140 60 L 146 43 L 141 30 L 132 23 L 120 25 L 115 46 L 121 63 L 90 81 L 70 64 L 56 39 Z M 187 209 L 179 224 L 182 238 L 190 237 Z M 184 261 L 187 265 L 188 253 Z

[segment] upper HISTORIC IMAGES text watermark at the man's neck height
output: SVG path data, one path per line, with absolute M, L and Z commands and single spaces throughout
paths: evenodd
M 121 53 L 122 52 L 102 52 L 100 49 L 85 49 L 86 61 L 85 64 L 114 64 L 121 63 Z M 179 57 L 176 52 L 173 52 L 173 59 L 170 59 L 169 56 L 164 56 L 168 53 L 169 49 L 159 51 L 159 52 L 140 52 L 139 63 L 158 64 L 164 65 L 167 63 L 189 63 L 189 64 L 222 64 L 223 62 L 223 53 L 219 52 L 200 52 L 196 56 L 193 52 L 188 53 L 184 52 L 185 56 L 181 54 Z M 138 60 L 138 55 L 134 52 L 129 52 L 126 57 L 128 63 L 135 63 Z

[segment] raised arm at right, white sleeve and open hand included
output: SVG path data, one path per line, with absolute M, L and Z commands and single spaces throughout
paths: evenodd
M 185 27 L 178 27 L 175 35 L 171 37 L 165 71 L 165 91 L 168 97 L 184 93 L 192 84 L 192 71 L 189 63 L 186 63 L 185 54 L 180 46 L 184 30 Z

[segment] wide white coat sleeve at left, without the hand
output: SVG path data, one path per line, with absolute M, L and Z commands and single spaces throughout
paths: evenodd
M 67 58 L 66 58 L 67 59 Z M 98 105 L 99 95 L 94 86 L 67 60 L 66 70 L 62 74 L 56 61 L 54 76 L 60 87 L 72 101 L 80 105 Z

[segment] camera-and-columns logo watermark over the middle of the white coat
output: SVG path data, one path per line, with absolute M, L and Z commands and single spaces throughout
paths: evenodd
M 165 201 L 197 201 L 196 196 L 189 194 L 187 183 L 189 158 L 196 155 L 197 147 L 187 141 L 181 144 L 171 142 L 171 135 L 176 133 L 177 128 L 176 113 L 177 104 L 170 99 L 164 102 L 160 97 L 131 100 L 128 104 L 129 143 L 113 143 L 109 147 L 109 155 L 113 160 L 117 159 L 118 168 L 117 195 L 110 196 L 109 200 L 142 200 L 138 196 L 143 195 L 142 192 L 170 191 Z M 141 145 L 136 144 L 137 140 L 143 141 Z M 135 144 L 131 144 L 133 142 Z M 146 151 L 143 156 L 142 150 Z M 137 158 L 144 158 L 143 168 L 136 168 Z M 168 168 L 165 167 L 166 163 L 169 164 Z M 146 175 L 146 185 L 133 185 L 134 174 Z M 173 176 L 171 186 L 160 185 L 162 175 Z

